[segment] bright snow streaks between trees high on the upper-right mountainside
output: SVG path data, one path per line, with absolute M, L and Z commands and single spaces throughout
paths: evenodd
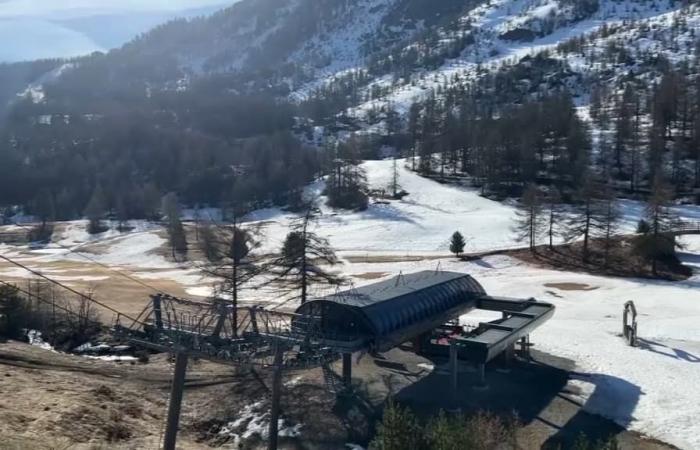
M 447 60 L 435 70 L 416 71 L 409 79 L 390 90 L 380 99 L 372 99 L 351 107 L 347 113 L 350 116 L 364 118 L 374 109 L 391 105 L 397 112 L 406 114 L 411 104 L 426 98 L 436 90 L 444 80 L 459 76 L 462 80 L 473 81 L 479 76 L 480 70 L 494 70 L 501 65 L 512 65 L 528 55 L 536 55 L 546 50 L 552 50 L 558 44 L 572 37 L 586 36 L 599 30 L 604 25 L 622 25 L 634 22 L 634 29 L 649 27 L 668 27 L 677 16 L 681 5 L 668 1 L 617 1 L 601 0 L 597 13 L 589 18 L 573 20 L 570 6 L 562 6 L 557 0 L 494 0 L 474 8 L 462 19 L 465 24 L 471 24 L 477 32 L 476 42 L 464 49 L 455 59 Z M 553 12 L 558 14 L 557 26 L 553 32 L 534 39 L 532 42 L 503 40 L 499 36 L 516 28 L 526 28 L 535 32 L 540 31 L 543 20 L 548 19 Z M 691 9 L 689 15 L 688 36 L 681 36 L 672 41 L 680 40 L 685 43 L 693 38 L 693 27 L 697 25 L 698 9 Z M 628 36 L 613 36 L 624 42 L 634 40 Z M 449 41 L 446 34 L 446 41 Z M 605 43 L 596 43 L 603 51 Z M 676 42 L 678 45 L 678 42 Z M 655 46 L 660 51 L 659 45 Z M 665 49 L 667 50 L 667 49 Z M 664 53 L 667 53 L 665 51 Z M 676 58 L 671 58 L 675 60 Z M 576 62 L 576 55 L 567 57 L 570 62 Z M 579 64 L 576 67 L 581 72 L 590 71 L 590 65 Z M 625 72 L 626 73 L 626 72 Z M 385 86 L 387 77 L 376 79 L 365 89 L 371 91 L 372 86 Z

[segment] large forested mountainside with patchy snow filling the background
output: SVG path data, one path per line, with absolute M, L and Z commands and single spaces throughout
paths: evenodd
M 0 67 L 0 205 L 293 205 L 334 173 L 353 199 L 337 206 L 361 207 L 351 168 L 386 154 L 499 197 L 664 178 L 697 201 L 698 24 L 680 0 L 244 0 L 107 54 Z

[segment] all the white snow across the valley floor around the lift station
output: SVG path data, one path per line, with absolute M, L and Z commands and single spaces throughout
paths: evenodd
M 491 295 L 551 302 L 556 313 L 533 333 L 532 341 L 537 350 L 576 364 L 572 383 L 580 387 L 586 410 L 680 448 L 700 448 L 700 426 L 694 420 L 700 416 L 700 236 L 682 239 L 685 248 L 680 257 L 694 268 L 695 275 L 681 282 L 546 270 L 505 256 L 463 262 L 448 252 L 448 240 L 457 230 L 465 236 L 469 252 L 521 245 L 512 231 L 513 204 L 485 199 L 475 189 L 422 178 L 406 169 L 406 163 L 398 165 L 400 184 L 409 192 L 403 200 L 372 203 L 364 212 L 321 207 L 315 231 L 338 249 L 342 264 L 337 270 L 356 285 L 400 272 L 454 270 L 474 276 Z M 388 185 L 392 166 L 392 161 L 364 163 L 372 188 Z M 318 182 L 307 194 L 318 195 L 322 190 L 323 183 Z M 643 204 L 622 200 L 620 205 L 624 231 L 633 231 Z M 678 206 L 676 211 L 681 217 L 700 220 L 699 206 Z M 263 252 L 279 249 L 294 219 L 294 214 L 279 209 L 256 211 L 247 217 L 263 225 Z M 81 229 L 84 225 L 74 223 L 57 236 L 76 251 L 88 242 L 98 245 L 100 253 L 90 257 L 129 267 L 144 279 L 167 277 L 179 280 L 190 294 L 211 293 L 209 280 L 200 278 L 194 267 L 179 266 L 156 253 L 164 239 L 151 225 L 136 225 L 130 233 L 107 232 L 90 238 Z M 17 247 L 0 244 L 3 254 L 26 258 L 23 261 L 31 267 L 61 259 L 84 262 L 75 252 L 49 250 L 58 252 L 28 252 L 27 256 Z M 587 290 L 566 290 L 566 284 L 585 285 Z M 270 290 L 250 290 L 246 300 L 274 303 L 277 295 Z M 620 337 L 623 305 L 628 300 L 635 302 L 639 312 L 641 345 L 637 348 L 627 346 Z M 462 317 L 461 323 L 474 325 L 493 318 L 489 313 L 472 313 Z M 251 408 L 245 420 L 235 427 L 232 423 L 229 432 L 265 432 L 265 417 L 257 409 Z M 245 432 L 238 428 L 244 425 Z

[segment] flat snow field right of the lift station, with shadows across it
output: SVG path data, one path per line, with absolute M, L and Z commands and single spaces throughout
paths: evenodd
M 592 413 L 683 449 L 700 448 L 700 236 L 684 238 L 682 257 L 696 275 L 682 282 L 620 279 L 545 270 L 506 256 L 474 262 L 447 258 L 442 270 L 469 273 L 495 296 L 535 297 L 553 303 L 554 317 L 535 331 L 538 351 L 576 364 L 574 385 Z M 434 268 L 434 261 L 356 263 L 349 275 L 368 272 L 395 276 Z M 372 281 L 356 278 L 358 284 Z M 561 283 L 592 290 L 562 290 Z M 549 287 L 546 285 L 550 285 Z M 640 347 L 620 337 L 622 311 L 633 300 L 639 312 Z M 475 311 L 461 323 L 493 320 Z M 425 367 L 428 369 L 427 367 Z

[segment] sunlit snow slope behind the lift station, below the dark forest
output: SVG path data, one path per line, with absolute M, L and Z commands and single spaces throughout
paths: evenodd
M 315 226 L 343 255 L 365 253 L 403 256 L 444 254 L 452 233 L 467 236 L 466 251 L 492 250 L 516 244 L 511 232 L 515 209 L 480 197 L 478 191 L 423 178 L 399 162 L 400 183 L 409 192 L 403 200 L 372 203 L 366 211 L 338 212 L 325 206 Z M 387 188 L 392 161 L 367 161 L 370 187 Z M 316 186 L 320 192 L 322 185 Z M 294 215 L 281 210 L 258 211 L 249 220 L 266 224 L 268 246 L 281 246 Z M 270 223 L 272 221 L 272 223 Z

